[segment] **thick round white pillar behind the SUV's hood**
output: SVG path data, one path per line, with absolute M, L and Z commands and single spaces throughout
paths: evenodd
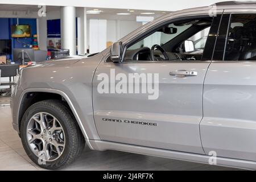
M 61 7 L 61 48 L 69 49 L 70 55 L 76 55 L 76 8 Z

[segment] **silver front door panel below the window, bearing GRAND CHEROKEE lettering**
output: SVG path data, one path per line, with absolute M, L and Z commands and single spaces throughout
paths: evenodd
M 199 123 L 203 116 L 203 80 L 209 63 L 101 63 L 93 78 L 94 120 L 101 140 L 203 154 Z M 142 93 L 99 93 L 98 76 L 105 73 L 110 77 L 110 69 L 115 70 L 115 75 L 123 73 L 127 77 L 129 73 L 159 73 L 158 99 L 148 100 L 148 94 Z M 170 72 L 176 70 L 194 71 L 198 75 L 171 76 Z M 157 126 L 104 121 L 104 118 L 151 122 Z

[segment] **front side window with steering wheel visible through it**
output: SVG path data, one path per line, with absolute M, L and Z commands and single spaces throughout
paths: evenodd
M 123 61 L 201 60 L 212 21 L 213 17 L 198 16 L 159 27 L 131 44 Z

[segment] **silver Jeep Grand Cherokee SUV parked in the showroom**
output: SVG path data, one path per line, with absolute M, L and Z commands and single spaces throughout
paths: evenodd
M 256 169 L 256 4 L 176 11 L 95 55 L 28 66 L 11 107 L 43 168 L 67 166 L 86 142 Z

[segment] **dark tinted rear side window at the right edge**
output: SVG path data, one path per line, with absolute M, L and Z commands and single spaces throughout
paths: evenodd
M 256 60 L 256 14 L 232 14 L 224 60 Z

